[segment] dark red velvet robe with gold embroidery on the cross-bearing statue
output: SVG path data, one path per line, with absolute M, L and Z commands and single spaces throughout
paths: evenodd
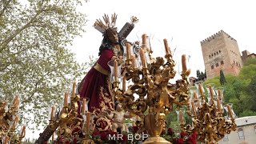
M 114 98 L 110 91 L 110 67 L 107 65 L 113 55 L 113 50 L 103 50 L 97 61 L 99 66 L 92 67 L 86 74 L 80 96 L 81 99 L 90 98 L 88 110 L 91 113 L 99 114 L 106 109 L 114 110 Z

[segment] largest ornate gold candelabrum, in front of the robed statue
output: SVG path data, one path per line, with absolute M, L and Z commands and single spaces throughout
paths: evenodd
M 126 42 L 125 64 L 118 59 L 111 60 L 111 78 L 114 86 L 114 98 L 122 102 L 124 110 L 140 117 L 137 126 L 144 128 L 150 134 L 144 143 L 170 143 L 159 135 L 165 124 L 165 115 L 173 110 L 173 104 L 181 107 L 189 106 L 187 80 L 190 70 L 186 67 L 186 55 L 182 55 L 182 79 L 170 83 L 176 71 L 175 62 L 167 40 L 163 40 L 166 50 L 165 58 L 152 58 L 152 49 L 149 38 L 142 35 L 142 45 L 134 44 L 137 54 L 132 54 L 130 42 Z M 136 43 L 136 42 L 135 42 Z M 136 47 L 137 46 L 137 47 Z M 134 50 L 136 51 L 136 50 Z M 141 65 L 140 65 L 141 63 Z M 121 66 L 123 74 L 121 74 Z M 119 86 L 122 81 L 122 87 Z M 126 86 L 126 82 L 132 84 Z M 137 96 L 137 99 L 135 98 Z M 149 114 L 144 114 L 146 110 Z

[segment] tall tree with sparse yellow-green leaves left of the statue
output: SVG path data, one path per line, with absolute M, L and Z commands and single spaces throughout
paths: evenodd
M 48 122 L 47 108 L 61 105 L 63 90 L 88 66 L 79 65 L 66 49 L 85 31 L 86 15 L 76 10 L 82 5 L 79 0 L 0 5 L 0 97 L 11 102 L 18 94 L 20 122 L 38 127 Z

